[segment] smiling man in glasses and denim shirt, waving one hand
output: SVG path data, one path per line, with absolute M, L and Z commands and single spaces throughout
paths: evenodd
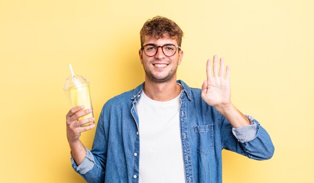
M 145 82 L 104 104 L 91 151 L 79 137 L 95 125 L 80 125 L 94 119 L 77 121 L 91 110 L 77 106 L 66 115 L 72 166 L 88 182 L 222 182 L 223 148 L 260 160 L 273 155 L 266 130 L 232 104 L 223 58 L 220 70 L 216 55 L 213 68 L 207 61 L 202 89 L 177 81 L 182 36 L 168 18 L 144 23 Z

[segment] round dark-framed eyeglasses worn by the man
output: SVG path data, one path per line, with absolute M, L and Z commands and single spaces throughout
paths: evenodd
M 180 46 L 175 44 L 164 44 L 163 46 L 158 46 L 152 43 L 145 44 L 140 49 L 143 49 L 147 56 L 154 56 L 157 53 L 159 47 L 162 48 L 163 53 L 166 56 L 173 56 L 176 54 L 177 48 L 181 49 Z

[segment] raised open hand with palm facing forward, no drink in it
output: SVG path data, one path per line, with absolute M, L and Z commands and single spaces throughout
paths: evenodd
M 211 59 L 207 60 L 207 80 L 204 80 L 202 85 L 202 98 L 204 101 L 216 108 L 224 108 L 231 105 L 231 89 L 230 89 L 230 67 L 224 69 L 224 58 L 220 58 L 220 70 L 218 72 L 218 56 L 213 58 L 213 72 Z

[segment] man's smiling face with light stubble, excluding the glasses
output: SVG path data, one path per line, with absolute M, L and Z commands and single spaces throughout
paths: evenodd
M 156 39 L 154 36 L 145 36 L 143 45 L 152 43 L 163 46 L 165 44 L 178 45 L 177 39 L 165 35 Z M 142 49 L 139 49 L 140 62 L 145 71 L 145 81 L 154 83 L 170 82 L 177 79 L 177 68 L 181 63 L 183 51 L 177 49 L 173 56 L 166 56 L 161 47 L 154 56 L 147 56 Z

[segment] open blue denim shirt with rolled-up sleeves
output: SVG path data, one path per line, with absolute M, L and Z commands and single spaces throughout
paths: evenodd
M 180 130 L 186 182 L 222 182 L 222 149 L 252 159 L 269 159 L 274 146 L 253 117 L 251 125 L 233 128 L 215 107 L 201 98 L 201 89 L 182 80 Z M 144 83 L 109 99 L 97 123 L 91 151 L 72 166 L 87 182 L 138 182 L 139 133 L 135 104 Z M 165 152 L 167 153 L 167 152 Z M 163 176 L 163 175 L 160 175 Z

